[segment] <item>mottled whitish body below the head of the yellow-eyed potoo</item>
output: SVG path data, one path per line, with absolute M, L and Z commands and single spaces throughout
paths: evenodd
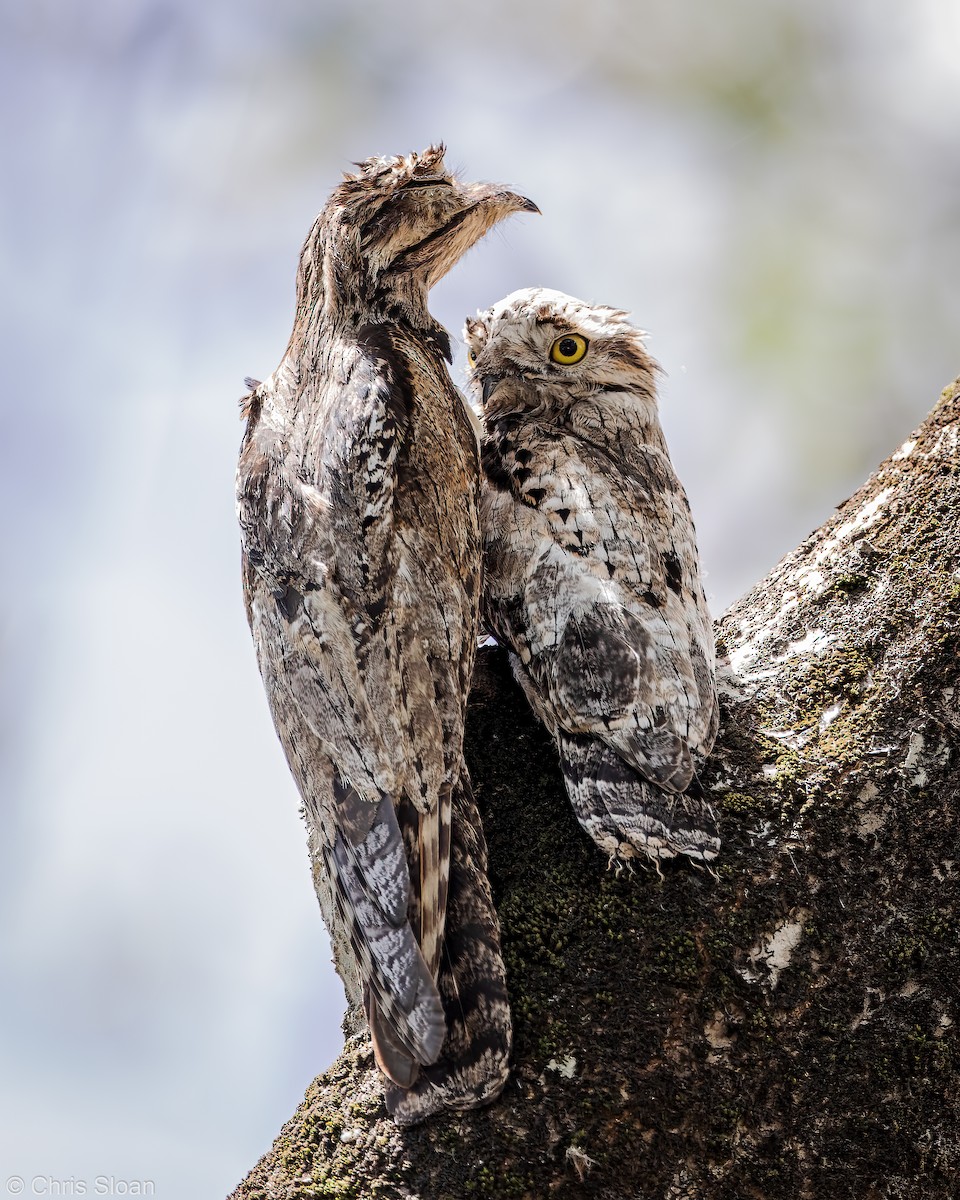
M 686 498 L 662 443 L 640 437 L 487 431 L 484 616 L 594 840 L 708 860 L 719 840 L 695 758 L 716 733 L 712 630 Z

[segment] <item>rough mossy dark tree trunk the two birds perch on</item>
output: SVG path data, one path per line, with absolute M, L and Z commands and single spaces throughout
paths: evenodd
M 400 1132 L 355 1034 L 234 1200 L 958 1195 L 960 380 L 718 634 L 715 877 L 608 870 L 481 654 L 506 1092 Z

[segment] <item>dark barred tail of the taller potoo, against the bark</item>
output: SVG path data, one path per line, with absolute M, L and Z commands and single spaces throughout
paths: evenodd
M 436 1112 L 494 1100 L 509 1073 L 512 1027 L 499 923 L 486 876 L 486 845 L 466 773 L 454 788 L 446 930 L 439 994 L 446 1018 L 440 1056 L 412 1086 L 386 1085 L 386 1108 L 403 1126 Z

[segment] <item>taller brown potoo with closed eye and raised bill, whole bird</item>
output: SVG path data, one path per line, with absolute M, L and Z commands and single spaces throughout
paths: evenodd
M 538 211 L 443 146 L 344 175 L 296 316 L 244 402 L 244 594 L 313 876 L 401 1124 L 499 1094 L 510 1014 L 463 763 L 480 602 L 479 448 L 427 293 Z M 252 382 L 251 382 L 252 383 Z

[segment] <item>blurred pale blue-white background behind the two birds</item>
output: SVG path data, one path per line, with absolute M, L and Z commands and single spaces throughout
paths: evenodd
M 719 613 L 960 373 L 960 8 L 2 0 L 0 89 L 0 1193 L 226 1195 L 341 1040 L 233 514 L 328 191 L 538 202 L 433 312 L 635 314 Z

